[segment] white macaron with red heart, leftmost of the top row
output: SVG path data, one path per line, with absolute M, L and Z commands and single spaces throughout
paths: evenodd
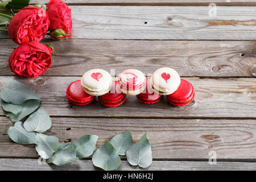
M 92 96 L 108 93 L 112 86 L 112 76 L 103 69 L 90 69 L 81 78 L 84 91 Z

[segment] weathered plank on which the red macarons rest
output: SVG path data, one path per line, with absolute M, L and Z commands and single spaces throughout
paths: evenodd
M 98 67 L 100 68 L 100 67 Z M 0 90 L 10 80 L 31 86 L 42 98 L 42 105 L 52 116 L 72 117 L 157 117 L 157 118 L 255 118 L 256 78 L 187 78 L 195 87 L 195 102 L 175 107 L 164 97 L 154 105 L 145 105 L 128 96 L 119 107 L 106 108 L 97 100 L 86 106 L 69 104 L 65 97 L 68 85 L 81 77 L 38 77 L 36 79 L 0 77 Z M 146 108 L 146 109 L 145 109 Z M 0 110 L 3 115 L 3 111 Z

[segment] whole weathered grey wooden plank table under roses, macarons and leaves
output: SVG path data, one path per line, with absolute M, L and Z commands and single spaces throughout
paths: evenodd
M 42 0 L 31 1 L 36 2 Z M 52 118 L 46 134 L 60 142 L 96 134 L 99 147 L 122 131 L 131 130 L 134 142 L 147 131 L 154 161 L 144 170 L 256 169 L 256 1 L 210 1 L 217 5 L 216 16 L 208 0 L 68 2 L 73 36 L 42 41 L 57 52 L 43 76 L 14 76 L 7 60 L 17 46 L 0 34 L 0 89 L 13 79 L 31 86 Z M 121 106 L 107 108 L 97 100 L 75 106 L 65 97 L 68 85 L 91 68 L 115 69 L 118 76 L 127 68 L 147 75 L 160 67 L 174 68 L 192 82 L 191 104 L 174 107 L 164 98 L 145 105 L 129 96 Z M 34 146 L 10 140 L 12 125 L 0 110 L 1 170 L 95 169 L 91 158 L 62 167 L 39 165 Z M 216 165 L 208 163 L 211 151 Z M 122 158 L 118 169 L 141 168 Z

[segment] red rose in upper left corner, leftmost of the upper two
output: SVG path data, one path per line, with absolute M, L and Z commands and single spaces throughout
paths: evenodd
M 39 42 L 48 31 L 49 18 L 46 10 L 27 6 L 15 14 L 9 24 L 10 38 L 17 44 Z

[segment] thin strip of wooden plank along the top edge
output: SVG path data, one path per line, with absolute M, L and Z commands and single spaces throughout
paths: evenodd
M 31 0 L 31 3 L 48 3 L 49 0 Z M 69 5 L 209 5 L 209 3 L 216 3 L 218 6 L 251 6 L 256 5 L 253 0 L 67 0 Z

